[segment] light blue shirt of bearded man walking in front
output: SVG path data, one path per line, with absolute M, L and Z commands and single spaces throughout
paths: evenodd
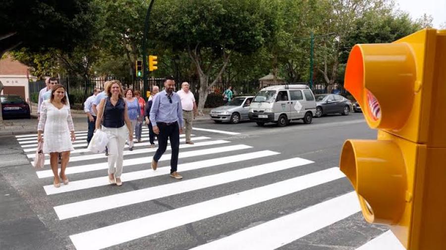
M 167 97 L 166 90 L 155 95 L 152 108 L 150 109 L 150 122 L 157 126 L 157 122 L 174 123 L 178 122 L 183 127 L 183 110 L 181 108 L 181 98 L 175 92 L 170 95 L 172 103 Z

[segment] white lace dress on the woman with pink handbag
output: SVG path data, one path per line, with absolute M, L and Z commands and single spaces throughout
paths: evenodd
M 56 108 L 49 100 L 42 103 L 37 130 L 44 131 L 43 152 L 63 152 L 74 150 L 70 131 L 74 131 L 70 107 Z

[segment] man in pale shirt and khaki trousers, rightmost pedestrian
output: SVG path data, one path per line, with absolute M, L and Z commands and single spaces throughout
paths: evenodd
M 176 92 L 181 99 L 181 107 L 183 108 L 183 119 L 185 125 L 186 143 L 194 144 L 190 140 L 192 133 L 192 121 L 197 114 L 197 105 L 195 104 L 195 96 L 189 91 L 189 83 L 181 83 L 181 89 Z

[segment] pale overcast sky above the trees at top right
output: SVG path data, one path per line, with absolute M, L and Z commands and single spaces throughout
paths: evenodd
M 407 11 L 415 20 L 424 13 L 434 17 L 434 28 L 446 22 L 446 0 L 395 0 L 397 7 Z

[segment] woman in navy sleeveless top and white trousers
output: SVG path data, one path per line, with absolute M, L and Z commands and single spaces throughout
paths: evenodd
M 110 81 L 106 88 L 107 98 L 98 105 L 96 129 L 107 133 L 109 142 L 109 182 L 121 186 L 122 165 L 124 161 L 125 140 L 133 141 L 133 130 L 128 118 L 127 104 L 122 98 L 122 86 L 117 80 Z M 125 126 L 126 125 L 126 126 Z

